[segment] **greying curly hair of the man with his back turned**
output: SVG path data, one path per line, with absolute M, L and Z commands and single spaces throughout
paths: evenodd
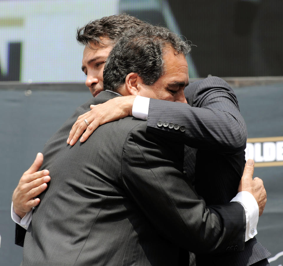
M 117 91 L 131 72 L 137 73 L 146 85 L 152 85 L 166 71 L 163 50 L 167 47 L 172 47 L 176 55 L 186 55 L 191 50 L 190 45 L 164 27 L 144 22 L 126 32 L 106 60 L 104 90 Z

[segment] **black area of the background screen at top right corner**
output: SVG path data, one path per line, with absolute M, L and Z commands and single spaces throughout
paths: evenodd
M 282 0 L 169 0 L 200 77 L 282 76 Z

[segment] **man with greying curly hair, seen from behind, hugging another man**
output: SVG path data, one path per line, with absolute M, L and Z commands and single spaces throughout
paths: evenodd
M 235 242 L 243 250 L 243 206 L 205 206 L 183 173 L 180 142 L 157 138 L 145 121 L 126 117 L 102 125 L 84 144 L 65 143 L 90 104 L 119 94 L 186 104 L 188 50 L 175 34 L 153 26 L 114 46 L 104 70 L 106 91 L 80 106 L 45 145 L 43 168 L 53 178 L 32 215 L 23 265 L 171 266 L 178 265 L 179 247 L 224 252 Z M 250 191 L 262 212 L 265 191 L 260 179 L 252 180 L 252 165 L 239 191 Z

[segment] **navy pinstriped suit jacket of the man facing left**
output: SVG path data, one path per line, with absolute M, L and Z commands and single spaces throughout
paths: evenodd
M 172 138 L 186 143 L 184 169 L 207 204 L 228 203 L 237 194 L 247 137 L 236 96 L 232 88 L 218 77 L 191 83 L 185 89 L 185 96 L 193 108 L 151 99 L 148 127 L 171 132 Z M 157 121 L 185 125 L 186 131 L 158 127 Z M 246 243 L 243 252 L 234 252 L 235 245 L 235 242 L 229 243 L 227 254 L 197 255 L 197 266 L 246 266 L 270 256 L 255 238 Z M 187 260 L 187 256 L 183 257 Z

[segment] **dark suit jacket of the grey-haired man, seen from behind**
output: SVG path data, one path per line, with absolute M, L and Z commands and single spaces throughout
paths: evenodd
M 179 247 L 224 252 L 244 246 L 239 203 L 206 208 L 183 173 L 184 145 L 147 132 L 132 117 L 99 127 L 83 144 L 66 144 L 82 105 L 47 142 L 40 195 L 24 240 L 23 265 L 178 265 Z M 225 230 L 224 230 L 225 228 Z

